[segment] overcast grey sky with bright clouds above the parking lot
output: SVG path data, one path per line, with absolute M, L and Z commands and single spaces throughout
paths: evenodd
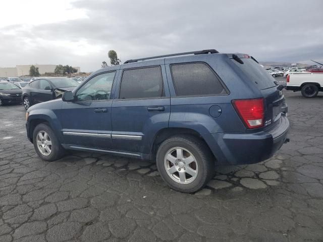
M 323 1 L 9 0 L 0 3 L 0 67 L 80 66 L 215 48 L 259 61 L 323 60 Z

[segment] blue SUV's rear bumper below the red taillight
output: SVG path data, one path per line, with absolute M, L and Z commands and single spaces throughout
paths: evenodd
M 223 164 L 252 164 L 272 157 L 285 142 L 289 120 L 282 115 L 279 124 L 267 132 L 254 134 L 212 134 L 218 141 L 220 152 L 214 156 Z M 222 137 L 220 137 L 222 136 Z

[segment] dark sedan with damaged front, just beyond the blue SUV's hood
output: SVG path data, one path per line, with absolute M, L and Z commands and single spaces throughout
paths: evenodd
M 22 101 L 26 109 L 31 105 L 62 97 L 66 91 L 72 91 L 79 83 L 71 78 L 46 77 L 30 82 L 23 89 Z

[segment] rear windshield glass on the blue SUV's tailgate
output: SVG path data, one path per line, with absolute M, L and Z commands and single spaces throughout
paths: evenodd
M 247 76 L 247 78 L 255 83 L 259 90 L 275 87 L 275 79 L 259 64 L 251 58 L 241 58 L 244 64 L 240 64 L 232 59 L 232 62 Z

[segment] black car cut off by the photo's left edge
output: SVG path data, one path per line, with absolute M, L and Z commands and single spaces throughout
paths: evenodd
M 8 81 L 0 81 L 0 106 L 7 103 L 21 103 L 21 88 Z

